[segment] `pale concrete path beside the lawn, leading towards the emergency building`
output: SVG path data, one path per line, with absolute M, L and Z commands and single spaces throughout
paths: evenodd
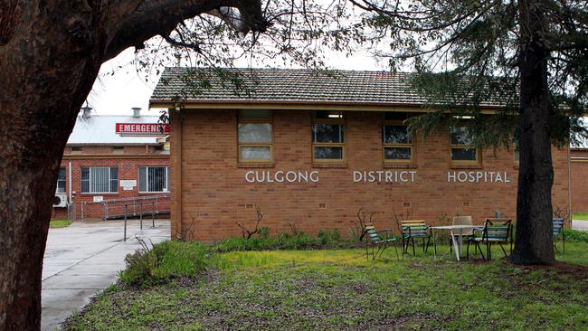
M 128 222 L 123 241 L 123 222 L 73 222 L 69 227 L 50 229 L 43 260 L 42 330 L 54 330 L 90 302 L 100 289 L 117 280 L 128 253 L 140 248 L 136 236 L 154 243 L 169 239 L 169 221 Z M 148 240 L 147 240 L 148 242 Z

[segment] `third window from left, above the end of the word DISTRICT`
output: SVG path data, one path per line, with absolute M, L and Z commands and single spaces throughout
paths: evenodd
M 389 119 L 397 117 L 388 116 L 387 113 L 384 115 L 384 162 L 413 162 L 413 140 L 408 135 L 403 119 Z

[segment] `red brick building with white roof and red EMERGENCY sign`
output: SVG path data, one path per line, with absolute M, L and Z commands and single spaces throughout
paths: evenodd
M 169 148 L 153 126 L 157 119 L 140 109 L 133 116 L 82 109 L 63 152 L 52 217 L 67 217 L 70 206 L 75 218 L 101 218 L 101 202 L 169 194 Z M 117 208 L 110 216 L 122 211 Z

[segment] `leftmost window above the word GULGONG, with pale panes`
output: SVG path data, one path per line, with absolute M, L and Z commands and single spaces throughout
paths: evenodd
M 239 111 L 239 162 L 273 160 L 272 127 L 270 110 Z

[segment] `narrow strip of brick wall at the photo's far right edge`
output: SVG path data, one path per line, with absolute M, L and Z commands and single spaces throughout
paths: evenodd
M 572 212 L 588 212 L 588 150 L 571 150 Z

